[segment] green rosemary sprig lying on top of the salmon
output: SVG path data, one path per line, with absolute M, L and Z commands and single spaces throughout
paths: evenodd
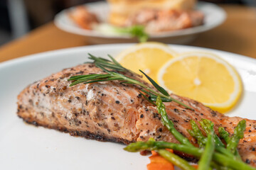
M 137 84 L 137 85 L 141 86 L 143 88 L 142 91 L 145 94 L 148 94 L 150 96 L 147 99 L 149 99 L 152 102 L 156 101 L 157 96 L 160 96 L 163 101 L 166 101 L 166 102 L 174 101 L 174 102 L 180 104 L 181 106 L 184 106 L 193 111 L 193 108 L 187 106 L 186 104 L 182 103 L 181 101 L 176 100 L 175 98 L 172 98 L 164 88 L 159 86 L 159 84 L 156 84 L 156 82 L 153 79 L 151 79 L 148 75 L 146 75 L 144 72 L 142 72 L 142 70 L 139 70 L 139 71 L 142 72 L 142 74 L 144 74 L 144 76 L 147 79 L 149 79 L 151 84 L 159 92 L 152 89 L 147 84 L 139 82 L 136 79 L 126 77 L 126 76 L 124 76 L 124 74 L 120 74 L 119 72 L 131 72 L 132 74 L 138 75 L 138 74 L 132 72 L 131 70 L 122 67 L 122 65 L 119 64 L 116 60 L 114 60 L 114 58 L 111 57 L 110 55 L 109 55 L 109 57 L 112 61 L 106 60 L 101 57 L 95 57 L 93 55 L 90 55 L 89 59 L 93 60 L 93 63 L 95 63 L 95 66 L 104 70 L 105 72 L 107 72 L 107 74 L 87 74 L 87 75 L 70 77 L 70 79 L 68 79 L 68 81 L 73 81 L 73 83 L 71 83 L 70 86 L 74 86 L 74 85 L 80 84 L 80 83 L 89 84 L 89 83 L 95 83 L 95 82 L 100 82 L 100 81 L 119 80 L 119 81 L 122 81 L 123 84 Z M 116 72 L 110 71 L 109 69 L 112 69 Z

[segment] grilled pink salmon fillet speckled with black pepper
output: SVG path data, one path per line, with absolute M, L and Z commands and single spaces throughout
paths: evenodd
M 139 86 L 122 84 L 120 81 L 69 86 L 71 82 L 68 79 L 80 74 L 104 72 L 94 64 L 81 64 L 36 81 L 18 95 L 18 116 L 33 125 L 101 141 L 129 144 L 154 137 L 155 140 L 177 142 L 161 124 L 161 115 L 157 113 L 156 107 L 139 94 Z M 130 73 L 126 75 L 143 81 Z M 197 123 L 202 118 L 211 120 L 217 134 L 220 126 L 233 133 L 235 126 L 242 120 L 212 111 L 189 98 L 174 94 L 171 96 L 195 110 L 191 111 L 174 102 L 165 103 L 175 128 L 193 144 L 196 141 L 187 132 L 191 129 L 190 120 Z M 256 166 L 255 134 L 256 121 L 247 120 L 245 137 L 240 140 L 238 150 L 242 159 L 252 166 Z

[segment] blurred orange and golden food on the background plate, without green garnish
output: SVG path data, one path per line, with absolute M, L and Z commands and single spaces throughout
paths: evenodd
M 108 0 L 108 24 L 117 27 L 144 26 L 146 33 L 156 34 L 203 24 L 204 15 L 194 9 L 196 0 Z M 81 28 L 97 30 L 97 13 L 78 6 L 70 16 Z M 104 23 L 105 24 L 105 23 Z

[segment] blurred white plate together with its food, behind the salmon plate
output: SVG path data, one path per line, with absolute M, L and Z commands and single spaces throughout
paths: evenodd
M 122 11 L 118 13 L 113 12 L 112 2 L 99 1 L 67 8 L 55 16 L 54 23 L 60 30 L 85 36 L 87 42 L 92 44 L 147 40 L 185 44 L 199 33 L 220 26 L 225 21 L 225 11 L 218 5 L 194 0 L 186 2 L 114 1 L 114 8 Z

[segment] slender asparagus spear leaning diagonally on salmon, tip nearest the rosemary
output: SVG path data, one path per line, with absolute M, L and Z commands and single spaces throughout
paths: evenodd
M 194 147 L 191 142 L 189 142 L 188 138 L 184 137 L 181 135 L 176 128 L 174 128 L 174 123 L 169 120 L 166 109 L 164 106 L 164 103 L 161 101 L 161 97 L 158 96 L 156 98 L 156 106 L 157 106 L 157 111 L 161 114 L 161 123 L 163 123 L 164 126 L 171 132 L 172 135 L 178 140 L 178 142 L 181 142 L 183 145 L 188 145 L 190 147 Z

